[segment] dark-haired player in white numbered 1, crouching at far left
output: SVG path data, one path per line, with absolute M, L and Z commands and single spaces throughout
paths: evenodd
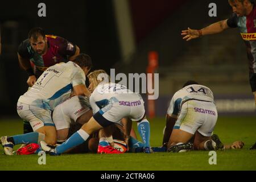
M 52 121 L 53 109 L 71 96 L 88 95 L 85 76 L 92 67 L 88 55 L 80 54 L 72 62 L 60 63 L 49 67 L 38 78 L 30 90 L 20 96 L 17 112 L 22 119 L 30 122 L 34 132 L 13 137 L 2 137 L 5 154 L 13 155 L 15 144 L 38 143 L 45 140 L 56 143 L 56 129 Z

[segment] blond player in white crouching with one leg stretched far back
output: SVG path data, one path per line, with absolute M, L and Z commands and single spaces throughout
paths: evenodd
M 150 153 L 150 125 L 145 117 L 142 97 L 131 92 L 125 86 L 109 83 L 109 77 L 105 71 L 94 71 L 88 75 L 88 78 L 89 89 L 93 92 L 90 96 L 93 117 L 65 143 L 55 147 L 42 141 L 40 142 L 42 149 L 51 155 L 60 155 L 83 143 L 94 131 L 114 123 L 121 124 L 121 119 L 126 117 L 128 118 L 124 125 L 126 143 L 129 143 L 131 121 L 137 121 L 138 130 L 144 143 L 144 152 Z

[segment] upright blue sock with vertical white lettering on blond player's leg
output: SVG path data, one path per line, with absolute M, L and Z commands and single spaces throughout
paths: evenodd
M 150 147 L 150 123 L 147 119 L 143 119 L 138 123 L 138 131 L 143 140 L 144 147 Z

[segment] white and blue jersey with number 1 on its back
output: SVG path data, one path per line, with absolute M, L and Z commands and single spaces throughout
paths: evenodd
M 70 96 L 74 86 L 80 84 L 85 85 L 85 74 L 79 65 L 72 61 L 55 64 L 44 71 L 32 88 L 19 97 L 19 102 L 53 110 Z

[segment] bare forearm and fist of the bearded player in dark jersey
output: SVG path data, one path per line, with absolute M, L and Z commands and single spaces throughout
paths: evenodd
M 36 82 L 36 76 L 34 75 L 34 72 L 31 68 L 30 60 L 23 58 L 22 56 L 19 55 L 19 53 L 18 53 L 18 60 L 19 60 L 20 68 L 26 70 L 28 73 L 28 79 L 27 79 L 28 86 L 33 86 Z

